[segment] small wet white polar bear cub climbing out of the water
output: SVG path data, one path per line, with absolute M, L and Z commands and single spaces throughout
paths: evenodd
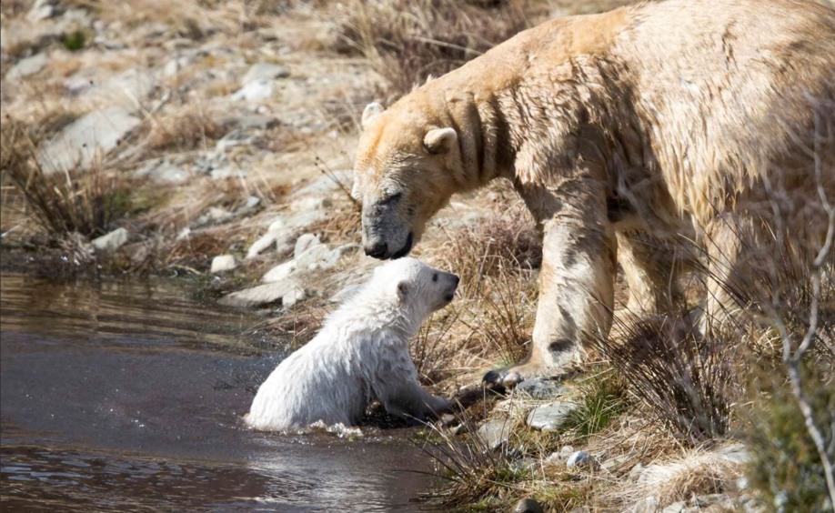
M 389 413 L 424 418 L 448 407 L 418 383 L 409 339 L 430 313 L 448 305 L 458 277 L 414 258 L 377 267 L 374 276 L 306 346 L 258 389 L 246 424 L 263 430 L 353 425 L 380 400 Z

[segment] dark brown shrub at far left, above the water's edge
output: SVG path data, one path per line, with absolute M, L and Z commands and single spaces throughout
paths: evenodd
M 54 236 L 101 235 L 133 209 L 136 185 L 117 179 L 101 162 L 47 175 L 35 158 L 32 134 L 11 117 L 3 124 L 0 168 L 20 190 L 35 223 Z

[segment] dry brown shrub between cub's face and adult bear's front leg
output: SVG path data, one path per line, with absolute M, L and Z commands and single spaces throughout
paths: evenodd
M 438 264 L 455 269 L 463 297 L 478 297 L 486 277 L 536 269 L 542 263 L 542 241 L 528 212 L 514 207 L 505 215 L 448 233 L 437 251 Z

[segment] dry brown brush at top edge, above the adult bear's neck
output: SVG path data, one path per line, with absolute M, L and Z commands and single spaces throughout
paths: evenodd
M 337 10 L 336 22 L 337 49 L 365 56 L 402 95 L 527 28 L 528 3 L 353 0 Z

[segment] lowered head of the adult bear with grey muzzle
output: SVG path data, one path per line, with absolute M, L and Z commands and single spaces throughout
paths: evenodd
M 352 194 L 362 202 L 363 246 L 369 257 L 405 257 L 456 192 L 458 135 L 418 102 L 370 104 L 362 126 Z

